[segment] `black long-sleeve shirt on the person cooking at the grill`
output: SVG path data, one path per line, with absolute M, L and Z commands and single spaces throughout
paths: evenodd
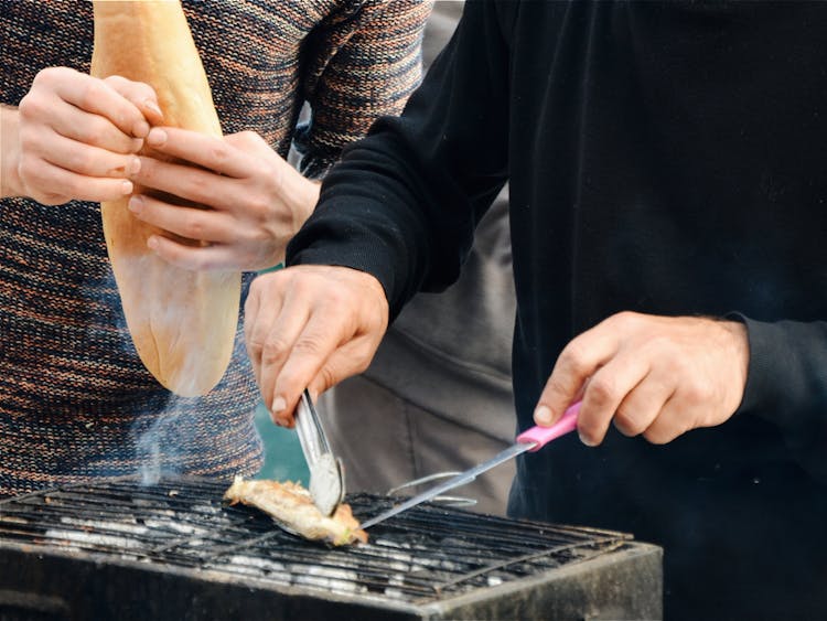
M 606 317 L 737 313 L 729 421 L 666 446 L 566 437 L 512 491 L 515 515 L 663 545 L 667 618 L 827 614 L 825 33 L 823 2 L 470 0 L 289 248 L 375 275 L 395 313 L 453 281 L 508 179 L 520 428 Z

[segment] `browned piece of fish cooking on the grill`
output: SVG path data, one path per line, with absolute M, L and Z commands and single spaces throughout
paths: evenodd
M 367 543 L 367 533 L 359 528 L 350 505 L 340 504 L 333 515 L 326 517 L 313 504 L 310 492 L 298 483 L 245 481 L 236 477 L 224 493 L 224 500 L 260 508 L 279 526 L 307 539 L 327 540 L 334 546 Z

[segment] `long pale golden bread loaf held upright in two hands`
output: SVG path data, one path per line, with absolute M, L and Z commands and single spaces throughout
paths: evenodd
M 158 94 L 165 125 L 222 135 L 180 0 L 95 0 L 94 15 L 94 76 L 144 82 Z M 127 202 L 100 207 L 132 342 L 163 386 L 187 397 L 206 394 L 233 353 L 240 272 L 190 271 L 163 261 L 147 248 L 159 231 L 136 218 Z

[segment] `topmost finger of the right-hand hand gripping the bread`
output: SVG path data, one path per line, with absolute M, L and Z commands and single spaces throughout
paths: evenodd
M 223 138 L 175 127 L 154 127 L 147 144 L 165 156 L 197 164 L 232 178 L 249 174 L 250 159 Z

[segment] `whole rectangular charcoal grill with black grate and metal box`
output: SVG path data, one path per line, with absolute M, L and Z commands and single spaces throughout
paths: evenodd
M 421 505 L 333 548 L 225 506 L 213 480 L 0 502 L 0 619 L 655 619 L 662 553 L 630 535 Z M 347 497 L 365 518 L 394 500 Z

